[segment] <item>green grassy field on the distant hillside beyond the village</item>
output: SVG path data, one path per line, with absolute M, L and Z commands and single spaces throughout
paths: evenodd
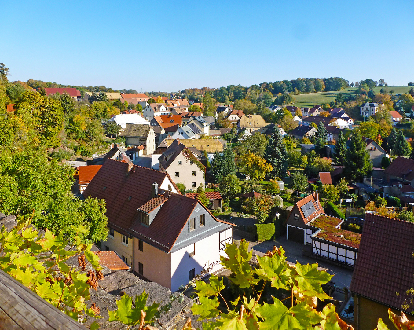
M 381 88 L 385 88 L 388 92 L 393 90 L 395 93 L 407 93 L 410 87 L 375 87 L 374 92 L 379 93 Z M 325 104 L 330 103 L 330 101 L 335 101 L 335 97 L 338 93 L 342 93 L 343 95 L 352 94 L 356 88 L 348 87 L 343 91 L 333 91 L 333 92 L 319 92 L 319 93 L 309 93 L 309 94 L 298 94 L 295 95 L 294 98 L 296 102 L 291 104 L 293 106 L 304 107 L 304 106 L 314 106 L 315 104 Z

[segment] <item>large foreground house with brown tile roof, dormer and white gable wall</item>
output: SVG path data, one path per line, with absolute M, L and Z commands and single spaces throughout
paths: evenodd
M 172 291 L 225 256 L 232 242 L 232 224 L 181 195 L 161 171 L 108 160 L 83 195 L 106 201 L 109 233 L 101 244 L 121 255 L 135 275 Z

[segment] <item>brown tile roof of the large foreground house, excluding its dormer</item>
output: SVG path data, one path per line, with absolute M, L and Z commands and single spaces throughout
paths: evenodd
M 108 227 L 123 234 L 136 236 L 168 252 L 195 207 L 198 205 L 207 212 L 209 211 L 198 200 L 171 193 L 151 225 L 142 225 L 138 219 L 137 209 L 152 198 L 152 183 L 156 182 L 158 186 L 161 186 L 166 178 L 178 191 L 167 173 L 135 165 L 128 172 L 128 164 L 108 159 L 89 183 L 83 195 L 105 199 Z M 164 197 L 168 195 L 168 192 L 160 188 L 158 192 L 165 194 Z M 130 196 L 132 198 L 129 198 Z M 214 218 L 212 214 L 211 216 Z

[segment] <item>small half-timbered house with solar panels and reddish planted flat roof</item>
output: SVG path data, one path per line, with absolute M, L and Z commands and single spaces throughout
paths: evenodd
M 305 255 L 355 265 L 361 234 L 340 229 L 344 220 L 324 214 L 318 197 L 314 192 L 295 203 L 284 222 L 287 239 L 305 245 Z

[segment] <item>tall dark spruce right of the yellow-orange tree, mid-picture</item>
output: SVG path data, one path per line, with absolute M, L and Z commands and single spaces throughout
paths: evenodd
M 280 134 L 277 125 L 274 126 L 273 132 L 270 135 L 270 140 L 265 151 L 265 159 L 273 167 L 273 170 L 270 173 L 272 176 L 283 178 L 286 175 L 286 145 L 284 144 L 283 137 Z

